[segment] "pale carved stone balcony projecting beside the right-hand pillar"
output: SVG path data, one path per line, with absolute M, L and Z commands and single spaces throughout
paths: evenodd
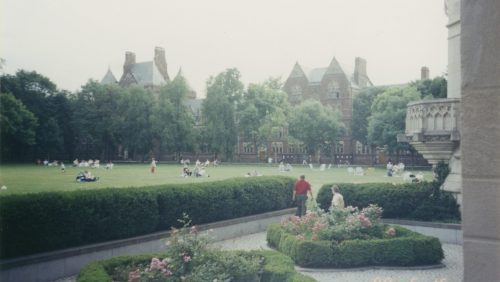
M 431 164 L 448 162 L 460 141 L 460 99 L 409 103 L 406 130 L 398 141 L 408 142 Z

